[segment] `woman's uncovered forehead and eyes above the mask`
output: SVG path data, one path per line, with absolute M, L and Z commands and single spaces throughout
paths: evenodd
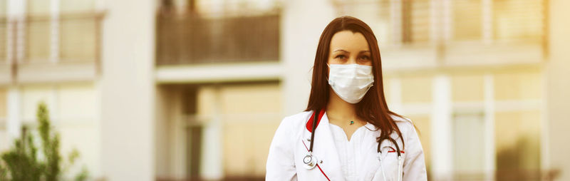
M 328 64 L 360 64 L 372 66 L 372 56 L 368 42 L 362 33 L 338 31 L 331 38 Z

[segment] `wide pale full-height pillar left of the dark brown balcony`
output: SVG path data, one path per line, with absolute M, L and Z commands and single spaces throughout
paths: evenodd
M 155 0 L 106 1 L 101 167 L 106 180 L 155 180 Z

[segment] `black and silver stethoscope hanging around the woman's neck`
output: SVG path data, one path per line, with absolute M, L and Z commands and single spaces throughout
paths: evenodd
M 315 155 L 313 155 L 313 143 L 315 143 L 314 142 L 314 140 L 315 140 L 315 128 L 316 128 L 316 123 L 318 122 L 317 113 L 321 113 L 321 111 L 316 110 L 313 113 L 313 128 L 311 131 L 311 145 L 309 146 L 309 153 L 307 153 L 307 155 L 303 158 L 303 162 L 305 163 L 304 167 L 308 170 L 313 169 L 316 166 L 316 163 L 318 162 L 318 159 L 315 157 Z M 398 153 L 398 181 L 402 181 L 402 175 L 400 174 L 400 172 L 402 171 L 401 170 L 402 169 L 402 155 L 400 155 L 400 147 L 398 146 L 398 143 L 396 143 L 396 141 L 390 137 L 383 138 L 378 142 L 377 152 L 378 152 L 378 160 L 380 160 L 380 170 L 382 171 L 382 177 L 384 180 L 386 180 L 386 174 L 385 174 L 384 169 L 382 167 L 382 150 L 380 150 L 380 143 L 382 143 L 383 140 L 389 140 L 396 147 L 396 152 Z

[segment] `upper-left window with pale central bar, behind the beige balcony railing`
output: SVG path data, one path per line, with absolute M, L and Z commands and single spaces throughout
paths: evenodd
M 53 1 L 28 1 L 26 59 L 31 62 L 94 61 L 98 16 L 94 0 L 61 0 L 56 14 Z M 55 31 L 55 32 L 54 32 Z

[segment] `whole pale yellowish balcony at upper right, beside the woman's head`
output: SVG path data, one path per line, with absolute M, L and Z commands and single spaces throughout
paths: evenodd
M 363 19 L 390 71 L 538 65 L 547 56 L 546 0 L 331 0 Z

